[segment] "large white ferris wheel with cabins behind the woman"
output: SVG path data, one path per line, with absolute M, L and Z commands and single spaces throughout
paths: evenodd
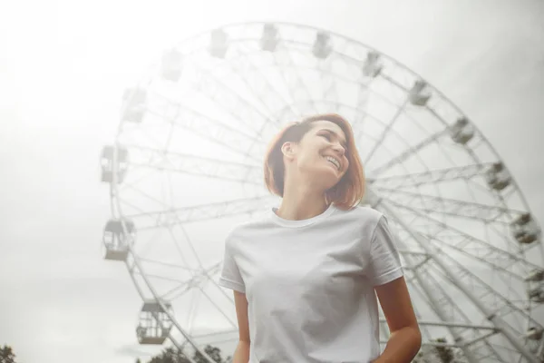
M 141 295 L 139 342 L 168 338 L 203 353 L 237 341 L 232 294 L 216 282 L 224 238 L 278 204 L 263 182 L 267 142 L 315 113 L 352 123 L 367 178 L 362 203 L 384 211 L 397 235 L 422 351 L 543 361 L 541 230 L 491 144 L 386 54 L 283 23 L 182 41 L 123 95 L 115 142 L 102 150 L 112 207 L 103 248 Z

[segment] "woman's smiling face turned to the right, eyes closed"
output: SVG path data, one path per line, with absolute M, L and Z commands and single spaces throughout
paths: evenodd
M 298 171 L 315 175 L 325 182 L 325 189 L 334 187 L 349 167 L 345 133 L 330 121 L 313 122 L 312 129 L 292 146 Z

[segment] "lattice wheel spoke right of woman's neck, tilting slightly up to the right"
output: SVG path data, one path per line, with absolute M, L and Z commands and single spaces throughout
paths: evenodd
M 451 182 L 454 180 L 469 180 L 477 176 L 484 176 L 491 163 L 457 166 L 428 172 L 416 172 L 398 176 L 375 178 L 372 183 L 376 187 L 388 189 L 417 187 L 423 184 L 436 182 Z M 407 179 L 410 177 L 410 179 Z

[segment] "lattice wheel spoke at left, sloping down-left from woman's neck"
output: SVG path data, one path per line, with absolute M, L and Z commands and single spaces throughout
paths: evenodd
M 165 211 L 129 214 L 126 218 L 134 221 L 138 229 L 144 231 L 193 221 L 209 221 L 239 214 L 252 214 L 264 211 L 275 203 L 275 199 L 267 195 Z

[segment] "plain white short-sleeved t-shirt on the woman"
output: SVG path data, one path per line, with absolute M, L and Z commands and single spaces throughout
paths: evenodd
M 334 205 L 316 217 L 234 228 L 219 284 L 248 299 L 250 363 L 367 363 L 380 355 L 374 286 L 403 276 L 382 213 Z

